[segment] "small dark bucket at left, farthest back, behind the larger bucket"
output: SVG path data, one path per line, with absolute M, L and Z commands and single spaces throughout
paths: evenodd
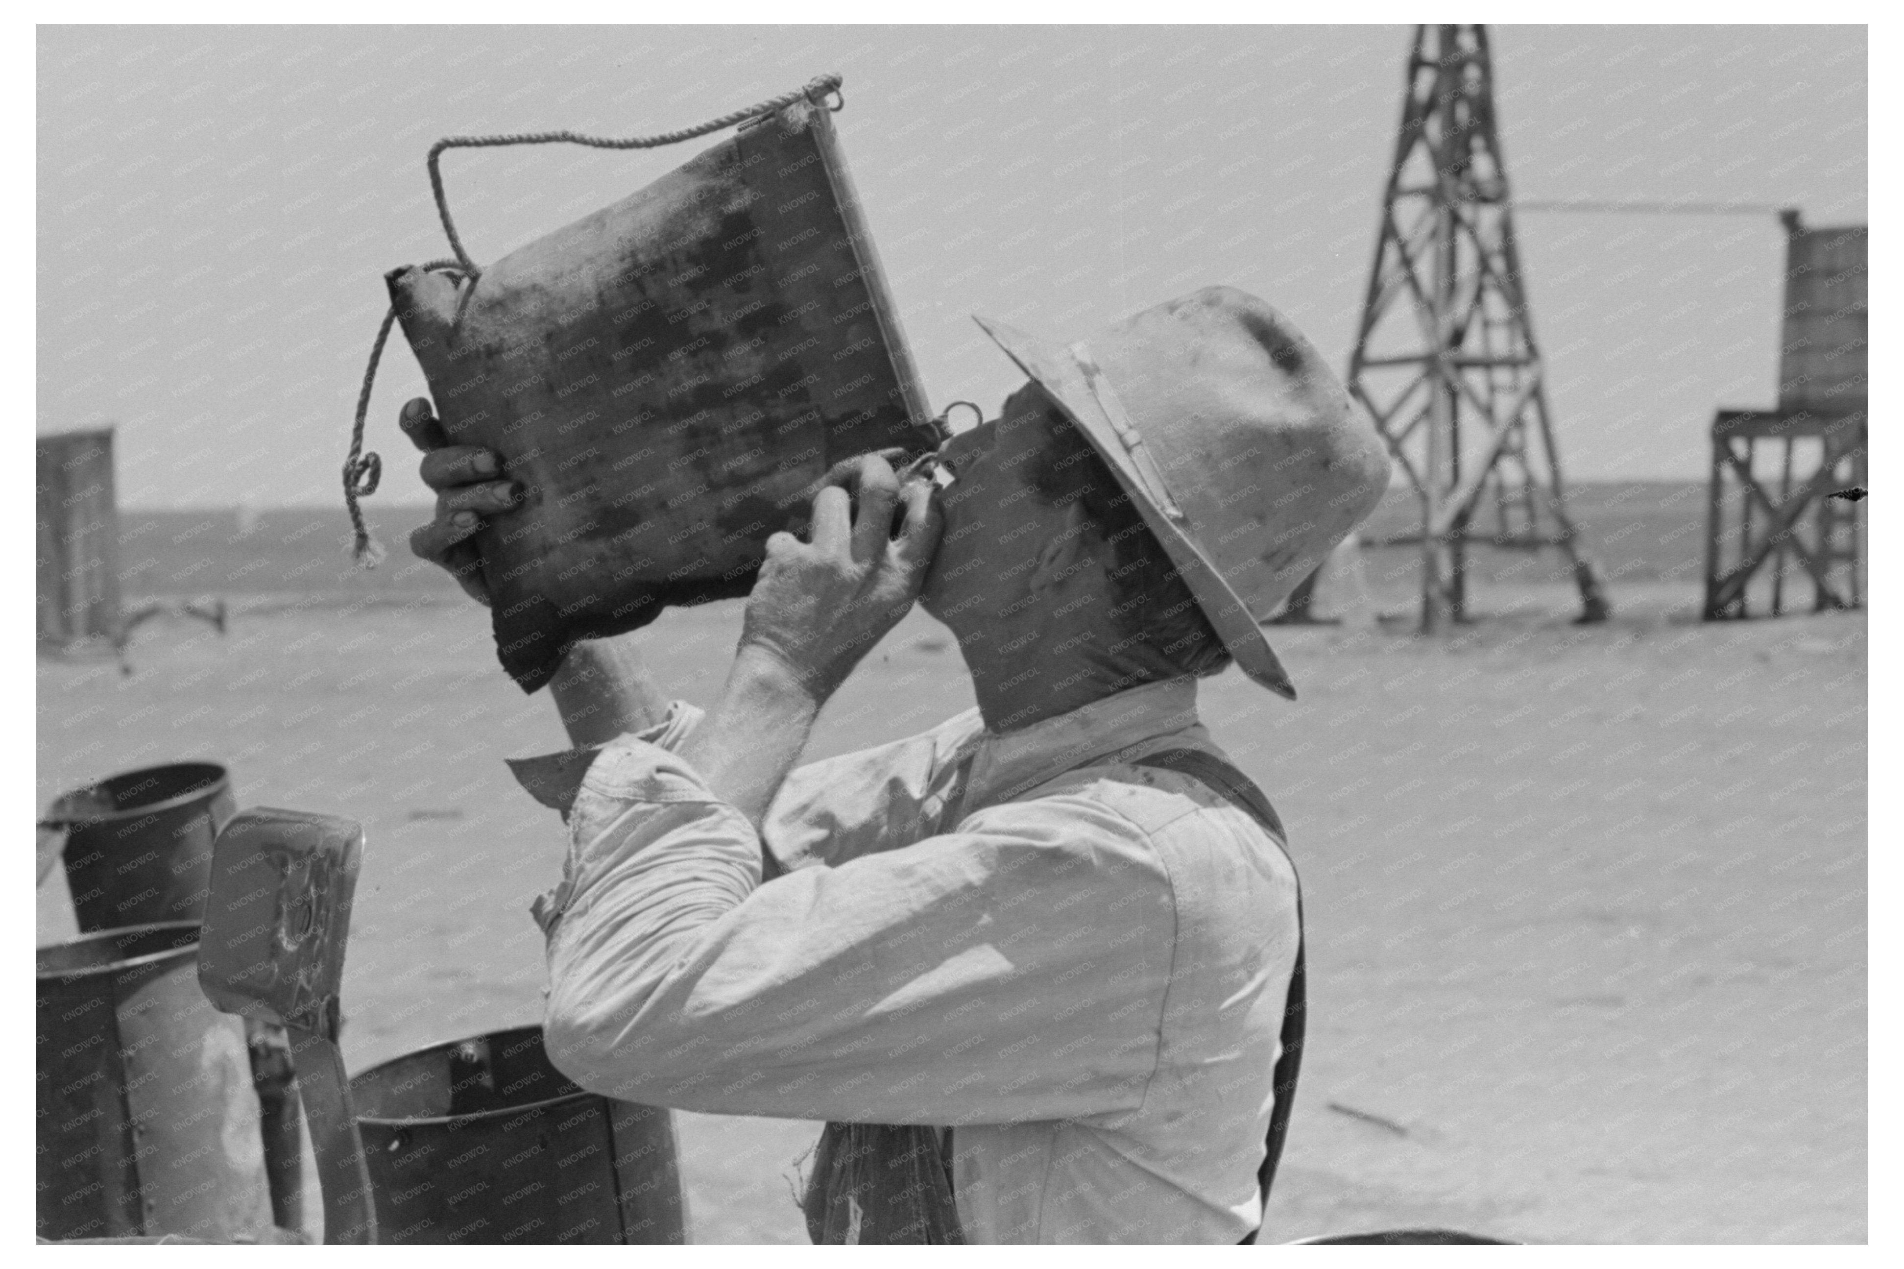
M 80 930 L 198 920 L 211 840 L 238 812 L 217 762 L 173 762 L 63 793 L 42 823 L 67 829 L 67 886 Z

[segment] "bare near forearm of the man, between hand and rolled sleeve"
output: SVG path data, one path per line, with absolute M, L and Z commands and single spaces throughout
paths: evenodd
M 720 703 L 682 749 L 708 791 L 760 829 L 807 745 L 821 699 L 775 654 L 743 646 Z

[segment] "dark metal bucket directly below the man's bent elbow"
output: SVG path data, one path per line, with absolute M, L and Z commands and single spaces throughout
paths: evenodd
M 583 1092 L 541 1027 L 350 1080 L 379 1242 L 685 1242 L 674 1122 Z

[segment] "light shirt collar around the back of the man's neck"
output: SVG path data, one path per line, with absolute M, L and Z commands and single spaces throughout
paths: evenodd
M 965 806 L 1011 800 L 1093 758 L 1196 726 L 1196 678 L 1165 678 L 1081 705 L 1017 732 L 984 732 Z

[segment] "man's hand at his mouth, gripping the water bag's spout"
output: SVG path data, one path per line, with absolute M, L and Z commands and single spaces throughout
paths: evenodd
M 880 453 L 834 467 L 813 497 L 811 541 L 767 539 L 741 652 L 773 654 L 815 705 L 832 695 L 920 594 L 944 528 L 933 492 L 927 480 L 901 488 Z

